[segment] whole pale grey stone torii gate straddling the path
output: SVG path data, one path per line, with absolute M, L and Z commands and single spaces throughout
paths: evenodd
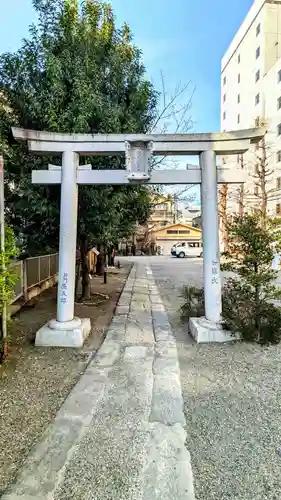
M 36 345 L 80 347 L 90 320 L 74 317 L 77 199 L 79 184 L 202 184 L 205 317 L 190 320 L 198 342 L 228 340 L 221 328 L 221 276 L 218 224 L 218 183 L 242 183 L 242 170 L 217 167 L 217 155 L 245 153 L 264 129 L 212 134 L 60 134 L 13 128 L 38 155 L 62 155 L 62 166 L 34 170 L 34 184 L 61 184 L 57 318 L 40 328 Z M 126 170 L 95 170 L 79 165 L 79 156 L 125 155 Z M 199 155 L 200 166 L 186 170 L 151 170 L 152 155 Z

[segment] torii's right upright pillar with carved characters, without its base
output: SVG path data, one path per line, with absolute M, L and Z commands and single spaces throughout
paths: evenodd
M 221 320 L 221 273 L 219 251 L 219 222 L 217 167 L 214 151 L 200 154 L 202 175 L 202 228 L 204 255 L 205 317 L 218 323 Z

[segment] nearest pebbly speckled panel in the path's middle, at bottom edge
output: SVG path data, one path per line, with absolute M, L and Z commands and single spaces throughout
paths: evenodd
M 81 443 L 83 452 L 78 449 L 68 464 L 54 500 L 142 500 L 149 439 L 145 425 L 115 426 L 113 433 L 97 421 Z

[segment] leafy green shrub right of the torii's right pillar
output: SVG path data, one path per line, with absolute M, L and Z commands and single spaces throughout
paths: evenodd
M 276 228 L 276 225 L 274 225 Z M 273 223 L 258 215 L 235 216 L 228 223 L 229 247 L 222 270 L 235 273 L 225 284 L 222 297 L 224 326 L 240 333 L 242 340 L 261 344 L 281 340 L 281 310 L 273 304 L 281 298 L 272 269 L 280 252 L 279 234 Z

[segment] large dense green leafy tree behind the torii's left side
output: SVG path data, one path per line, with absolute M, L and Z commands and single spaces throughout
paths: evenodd
M 127 24 L 118 29 L 110 4 L 89 0 L 33 0 L 38 24 L 16 53 L 0 57 L 1 144 L 6 153 L 7 218 L 23 247 L 40 253 L 58 246 L 58 186 L 31 184 L 31 170 L 54 159 L 34 157 L 16 144 L 12 124 L 77 133 L 146 133 L 156 120 L 158 95 L 145 79 L 141 52 Z M 58 160 L 60 161 L 60 160 Z M 84 158 L 93 168 L 123 168 L 124 159 Z M 131 234 L 149 215 L 145 187 L 80 186 L 81 249 Z M 84 292 L 88 293 L 85 273 Z

